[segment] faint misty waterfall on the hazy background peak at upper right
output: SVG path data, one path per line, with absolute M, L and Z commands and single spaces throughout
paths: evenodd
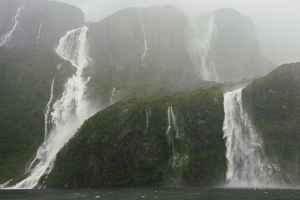
M 205 22 L 202 23 L 205 24 Z M 216 68 L 209 58 L 211 37 L 213 34 L 217 34 L 214 13 L 211 14 L 206 23 L 205 27 L 202 28 L 199 28 L 198 24 L 191 26 L 192 35 L 187 45 L 188 52 L 199 77 L 207 81 L 219 82 Z

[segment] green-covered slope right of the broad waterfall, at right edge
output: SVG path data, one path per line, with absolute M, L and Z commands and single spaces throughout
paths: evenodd
M 295 184 L 300 170 L 300 63 L 283 64 L 243 89 L 266 157 Z M 290 181 L 290 180 L 289 180 Z

